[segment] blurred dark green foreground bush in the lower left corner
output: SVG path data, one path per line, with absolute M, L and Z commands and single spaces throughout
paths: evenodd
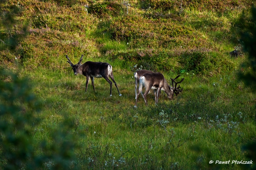
M 0 166 L 3 169 L 73 169 L 75 143 L 67 133 L 68 121 L 47 140 L 36 141 L 41 102 L 30 81 L 0 70 Z M 47 142 L 46 142 L 47 141 Z M 48 142 L 48 141 L 52 141 Z

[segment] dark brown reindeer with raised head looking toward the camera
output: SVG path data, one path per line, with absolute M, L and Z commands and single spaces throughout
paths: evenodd
M 114 80 L 112 66 L 109 63 L 91 62 L 91 61 L 87 61 L 84 64 L 81 64 L 81 61 L 83 60 L 83 56 L 84 55 L 81 56 L 81 58 L 77 64 L 73 64 L 70 61 L 70 59 L 68 58 L 68 55 L 66 55 L 66 58 L 68 59 L 67 62 L 73 68 L 75 75 L 77 75 L 77 73 L 78 73 L 78 74 L 82 74 L 82 75 L 86 76 L 85 92 L 87 92 L 87 87 L 88 87 L 90 78 L 92 80 L 93 90 L 95 91 L 94 78 L 102 78 L 103 77 L 110 84 L 110 96 L 112 96 L 112 82 L 108 78 L 108 77 L 110 77 L 111 80 L 116 85 L 116 82 Z M 117 85 L 116 85 L 116 88 L 117 88 Z M 120 94 L 118 88 L 117 88 L 117 91 L 119 93 L 119 96 L 122 96 L 122 94 Z

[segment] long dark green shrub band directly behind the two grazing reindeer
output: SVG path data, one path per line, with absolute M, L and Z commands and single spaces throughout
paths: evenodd
M 190 71 L 199 75 L 212 76 L 223 70 L 232 70 L 236 64 L 231 58 L 209 49 L 197 50 L 154 50 L 137 49 L 127 52 L 119 52 L 112 59 L 119 59 L 128 62 L 131 66 L 135 64 L 142 69 L 153 71 Z M 133 68 L 131 67 L 131 70 Z M 135 71 L 135 70 L 132 70 Z

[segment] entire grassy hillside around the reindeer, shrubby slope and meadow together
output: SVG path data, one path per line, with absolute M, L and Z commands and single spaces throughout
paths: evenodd
M 231 162 L 251 160 L 243 148 L 256 135 L 256 96 L 237 78 L 237 71 L 247 71 L 240 67 L 248 54 L 239 31 L 252 24 L 253 5 L 251 0 L 1 1 L 0 67 L 17 72 L 17 80 L 1 74 L 1 89 L 13 88 L 2 91 L 0 110 L 17 106 L 10 113 L 34 116 L 25 116 L 24 129 L 33 141 L 27 145 L 37 148 L 34 156 L 48 156 L 40 157 L 42 169 L 61 169 L 62 159 L 70 169 L 241 169 Z M 9 13 L 15 24 L 7 22 Z M 235 49 L 238 57 L 229 54 Z M 82 63 L 113 66 L 122 97 L 115 86 L 109 97 L 108 82 L 97 78 L 96 92 L 90 83 L 85 93 L 86 78 L 75 76 L 65 58 L 76 63 L 82 54 Z M 162 92 L 157 105 L 149 93 L 148 107 L 140 96 L 134 108 L 133 72 L 141 68 L 162 72 L 169 83 L 180 74 L 183 91 L 173 101 Z M 20 93 L 26 87 L 31 91 Z M 30 104 L 30 92 L 40 105 Z M 17 118 L 0 116 L 10 126 Z M 4 132 L 3 143 L 9 140 Z M 34 157 L 13 163 L 4 151 L 0 148 L 0 169 L 32 167 Z

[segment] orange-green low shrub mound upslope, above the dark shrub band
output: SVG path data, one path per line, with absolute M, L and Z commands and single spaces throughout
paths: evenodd
M 139 23 L 139 24 L 138 24 Z M 141 16 L 124 16 L 114 19 L 108 31 L 117 41 L 127 41 L 131 48 L 157 48 L 179 46 L 178 39 L 189 45 L 199 37 L 191 27 L 172 19 L 148 19 Z M 196 41 L 190 46 L 196 46 Z M 168 45 L 166 45 L 168 43 Z

